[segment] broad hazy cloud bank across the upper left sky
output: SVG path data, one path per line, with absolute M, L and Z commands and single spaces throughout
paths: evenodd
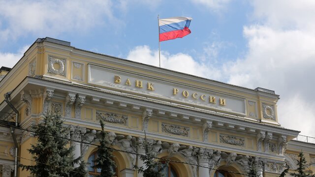
M 111 8 L 110 0 L 0 0 L 0 41 L 85 31 L 104 19 L 120 23 Z

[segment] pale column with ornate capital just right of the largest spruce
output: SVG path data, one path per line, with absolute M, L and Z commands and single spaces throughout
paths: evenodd
M 82 135 L 85 133 L 86 133 L 85 127 L 79 127 L 79 126 L 70 127 L 70 138 L 71 140 L 74 140 L 70 142 L 70 145 L 74 147 L 73 148 L 74 159 L 77 159 L 81 156 L 81 143 L 80 142 L 82 141 Z M 80 161 L 74 164 L 74 167 L 79 167 L 79 166 L 80 166 Z

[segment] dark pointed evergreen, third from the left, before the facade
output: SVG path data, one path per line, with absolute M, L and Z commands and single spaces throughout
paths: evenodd
M 138 173 L 142 173 L 143 177 L 164 177 L 163 172 L 167 169 L 168 162 L 162 164 L 153 158 L 152 144 L 150 144 L 146 136 L 143 141 L 143 148 L 145 150 L 145 155 L 141 155 L 140 159 L 144 162 L 147 168 L 144 169 L 143 167 L 138 166 L 134 166 L 134 168 L 138 169 Z

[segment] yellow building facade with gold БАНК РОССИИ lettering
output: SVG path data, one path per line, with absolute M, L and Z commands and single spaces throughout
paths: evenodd
M 279 95 L 272 90 L 97 54 L 48 37 L 37 39 L 12 69 L 2 67 L 0 76 L 2 177 L 30 175 L 15 164 L 35 163 L 27 149 L 36 139 L 27 129 L 46 112 L 61 114 L 71 127 L 74 156 L 83 155 L 91 175 L 98 172 L 90 167 L 97 147 L 84 143 L 99 144 L 99 119 L 112 147 L 122 150 L 114 151 L 118 177 L 141 177 L 133 165 L 144 165 L 134 153 L 144 153 L 145 133 L 157 157 L 173 160 L 169 177 L 241 177 L 251 164 L 261 176 L 278 177 L 285 163 L 296 168 L 301 150 L 315 172 L 315 144 L 293 140 L 299 131 L 278 123 Z

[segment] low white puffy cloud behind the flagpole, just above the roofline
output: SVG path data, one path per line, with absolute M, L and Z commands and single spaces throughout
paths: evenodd
M 158 66 L 158 50 L 153 51 L 148 46 L 137 46 L 127 56 L 128 60 Z M 219 79 L 221 72 L 216 68 L 197 62 L 188 54 L 178 53 L 171 55 L 161 51 L 161 67 L 178 72 L 188 73 L 200 77 Z

